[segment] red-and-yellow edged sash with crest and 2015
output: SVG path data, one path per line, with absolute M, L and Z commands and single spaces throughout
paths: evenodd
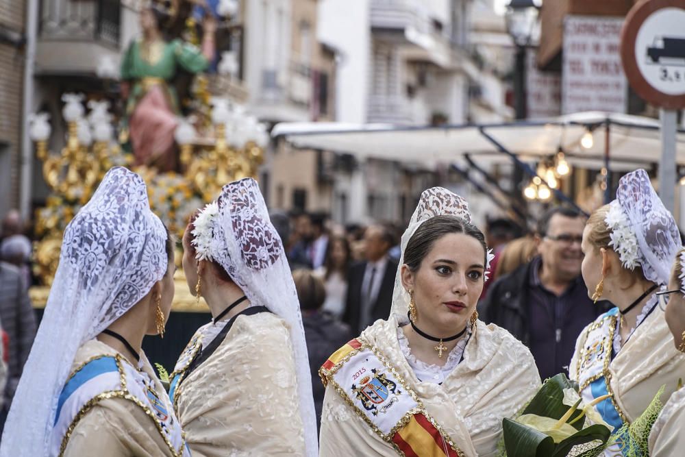
M 390 362 L 363 340 L 338 349 L 319 375 L 399 455 L 464 457 Z

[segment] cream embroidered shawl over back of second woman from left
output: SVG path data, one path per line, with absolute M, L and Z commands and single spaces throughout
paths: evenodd
M 275 314 L 239 316 L 175 397 L 193 457 L 304 455 L 290 333 Z

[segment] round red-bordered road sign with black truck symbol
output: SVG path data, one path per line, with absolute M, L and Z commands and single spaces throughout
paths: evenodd
M 667 110 L 685 108 L 685 0 L 647 0 L 628 13 L 621 60 L 640 97 Z

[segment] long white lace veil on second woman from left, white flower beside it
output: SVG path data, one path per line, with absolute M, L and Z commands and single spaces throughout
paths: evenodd
M 262 193 L 252 178 L 223 186 L 217 203 L 219 212 L 212 224 L 212 258 L 247 295 L 251 306 L 266 306 L 288 323 L 306 454 L 314 457 L 319 453 L 319 446 L 312 375 L 297 291 L 281 238 L 271 224 Z

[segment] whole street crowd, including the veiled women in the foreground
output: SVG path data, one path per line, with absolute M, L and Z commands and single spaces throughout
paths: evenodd
M 604 455 L 684 444 L 685 249 L 642 170 L 532 233 L 479 230 L 444 188 L 407 227 L 339 227 L 229 183 L 180 240 L 211 320 L 168 379 L 141 345 L 164 336 L 175 240 L 142 179 L 112 169 L 71 221 L 37 335 L 24 228 L 11 212 L 0 240 L 2 456 L 498 456 L 558 373 L 616 434 Z

